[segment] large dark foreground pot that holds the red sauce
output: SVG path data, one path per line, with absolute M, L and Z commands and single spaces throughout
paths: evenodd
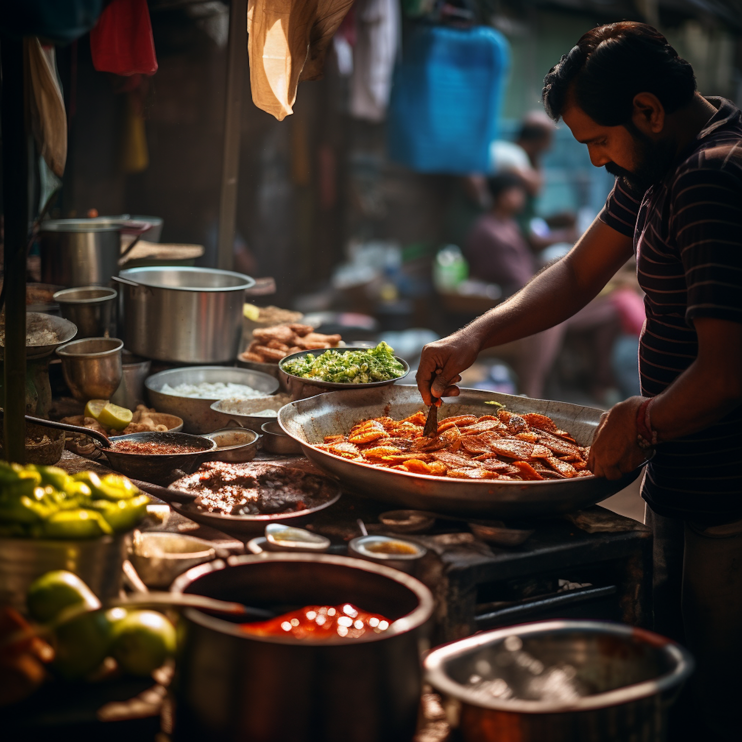
M 174 740 L 409 742 L 421 693 L 423 627 L 433 595 L 389 567 L 329 554 L 260 554 L 200 565 L 175 592 L 283 612 L 352 603 L 393 620 L 383 634 L 302 642 L 252 637 L 184 611 Z

